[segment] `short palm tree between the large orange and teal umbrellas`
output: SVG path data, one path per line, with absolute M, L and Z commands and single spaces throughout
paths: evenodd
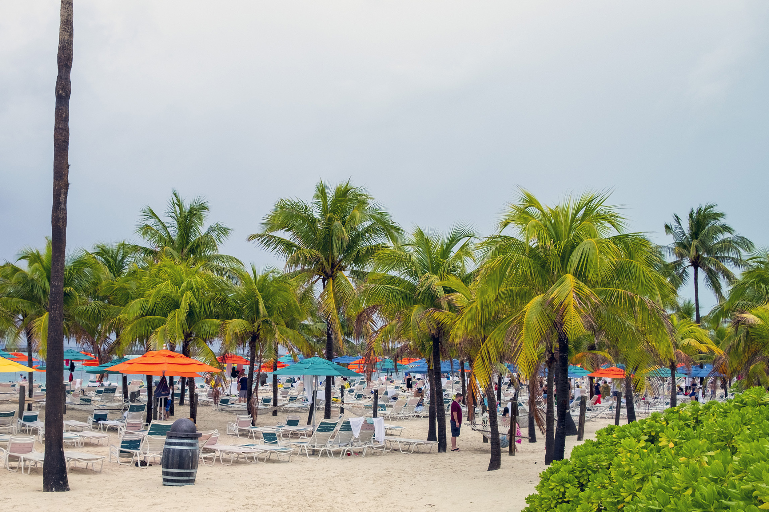
M 229 294 L 226 307 L 227 318 L 221 325 L 221 338 L 224 349 L 234 352 L 238 343 L 248 346 L 248 392 L 246 394 L 249 410 L 251 409 L 251 391 L 254 388 L 254 368 L 259 347 L 267 346 L 264 351 L 270 357 L 277 370 L 278 347 L 283 345 L 291 350 L 308 353 L 307 339 L 301 334 L 301 324 L 309 316 L 306 304 L 311 295 L 301 294 L 299 278 L 290 278 L 281 274 L 277 268 L 268 268 L 258 272 L 254 265 L 251 271 L 239 268 L 235 271 L 237 286 Z M 305 304 L 302 304 L 302 301 Z M 263 351 L 259 351 L 262 353 Z M 273 375 L 273 404 L 278 404 L 278 376 Z M 277 410 L 274 411 L 277 415 Z M 253 412 L 251 412 L 253 414 Z

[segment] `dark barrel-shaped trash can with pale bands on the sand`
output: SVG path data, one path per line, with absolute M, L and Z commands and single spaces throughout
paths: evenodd
M 198 437 L 201 433 L 187 418 L 171 425 L 163 447 L 163 485 L 195 485 L 198 474 Z

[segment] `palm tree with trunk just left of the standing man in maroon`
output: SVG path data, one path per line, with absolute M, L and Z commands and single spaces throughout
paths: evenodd
M 394 338 L 411 344 L 416 352 L 429 354 L 430 396 L 436 411 L 439 452 L 446 451 L 441 346 L 450 335 L 446 295 L 454 291 L 443 283 L 449 278 L 469 280 L 467 264 L 474 258 L 474 238 L 474 231 L 465 226 L 457 226 L 442 237 L 416 228 L 403 244 L 375 254 L 374 268 L 361 287 L 362 304 L 377 308 L 386 322 L 372 337 L 373 344 L 381 346 Z

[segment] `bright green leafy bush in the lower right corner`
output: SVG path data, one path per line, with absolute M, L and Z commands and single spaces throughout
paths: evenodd
M 524 512 L 769 509 L 769 394 L 681 405 L 598 431 L 541 475 Z

